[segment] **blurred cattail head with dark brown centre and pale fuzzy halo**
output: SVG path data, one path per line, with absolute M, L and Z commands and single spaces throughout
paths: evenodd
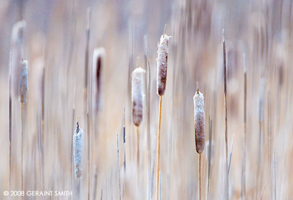
M 93 74 L 92 74 L 92 80 L 93 80 L 93 102 L 95 102 L 95 108 L 96 110 L 99 110 L 100 108 L 100 92 L 101 92 L 101 72 L 104 67 L 105 62 L 105 49 L 103 47 L 95 48 L 93 52 Z

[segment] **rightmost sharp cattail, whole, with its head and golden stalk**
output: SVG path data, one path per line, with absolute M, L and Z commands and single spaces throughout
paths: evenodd
M 194 131 L 195 131 L 195 147 L 198 153 L 198 199 L 201 200 L 201 153 L 204 150 L 206 134 L 205 131 L 205 117 L 204 117 L 204 99 L 198 89 L 198 82 L 196 82 L 196 93 L 193 97 L 194 101 Z

